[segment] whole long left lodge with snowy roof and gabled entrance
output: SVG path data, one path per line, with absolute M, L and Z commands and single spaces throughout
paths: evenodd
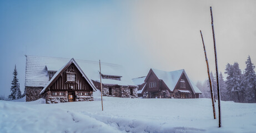
M 138 86 L 121 65 L 101 65 L 104 96 L 137 97 Z M 93 91 L 100 88 L 99 62 L 26 55 L 26 101 L 39 98 L 46 98 L 48 103 L 88 101 L 93 99 Z

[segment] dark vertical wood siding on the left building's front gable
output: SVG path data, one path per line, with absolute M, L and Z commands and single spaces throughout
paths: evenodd
M 73 67 L 73 69 L 71 69 L 71 66 Z M 67 81 L 67 74 L 76 74 L 76 81 Z M 73 89 L 71 89 L 71 86 L 73 86 Z M 86 81 L 86 79 L 82 76 L 76 65 L 74 65 L 73 63 L 69 65 L 68 68 L 59 75 L 55 83 L 53 83 L 52 86 L 50 86 L 49 88 L 52 91 L 93 90 L 89 83 Z

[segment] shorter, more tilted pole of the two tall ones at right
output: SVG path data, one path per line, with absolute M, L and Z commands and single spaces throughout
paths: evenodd
M 207 58 L 207 55 L 206 55 L 206 50 L 205 50 L 205 46 L 204 46 L 204 39 L 203 39 L 203 34 L 202 34 L 201 30 L 200 30 L 200 34 L 201 34 L 201 37 L 202 37 L 202 42 L 203 42 L 203 47 L 204 47 L 205 62 L 206 62 L 206 65 L 207 65 L 207 73 L 208 73 L 209 84 L 210 84 L 210 95 L 212 96 L 213 118 L 216 119 L 214 96 L 213 96 L 213 85 L 212 85 L 212 80 L 210 79 L 209 63 L 208 63 L 208 58 Z

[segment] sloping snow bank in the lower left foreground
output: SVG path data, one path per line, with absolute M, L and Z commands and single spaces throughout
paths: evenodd
M 0 132 L 119 132 L 78 112 L 24 105 L 0 101 Z

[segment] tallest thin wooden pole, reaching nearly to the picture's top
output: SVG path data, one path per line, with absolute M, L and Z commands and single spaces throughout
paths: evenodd
M 213 30 L 213 44 L 215 53 L 215 66 L 216 66 L 216 78 L 217 78 L 217 92 L 218 92 L 218 108 L 219 108 L 219 127 L 222 127 L 221 111 L 220 111 L 220 90 L 219 90 L 219 73 L 218 73 L 218 60 L 217 60 L 217 49 L 215 43 L 214 27 L 213 27 L 213 13 L 212 7 L 210 7 L 210 16 L 212 17 L 212 30 Z

